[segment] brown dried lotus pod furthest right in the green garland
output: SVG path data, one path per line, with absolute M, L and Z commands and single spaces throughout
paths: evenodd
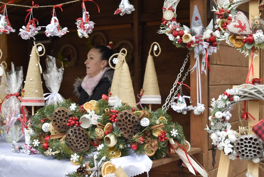
M 124 138 L 130 139 L 139 132 L 140 120 L 134 112 L 124 110 L 118 113 L 116 126 L 121 129 Z

